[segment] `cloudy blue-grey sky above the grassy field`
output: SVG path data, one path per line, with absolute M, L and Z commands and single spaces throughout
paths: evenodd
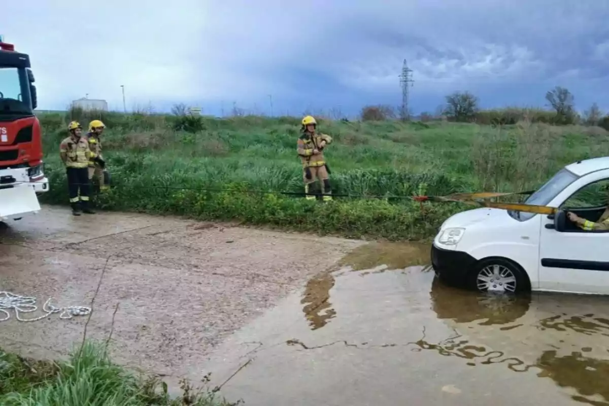
M 1 34 L 33 64 L 41 109 L 88 94 L 122 109 L 175 102 L 228 114 L 398 105 L 452 91 L 483 107 L 541 106 L 566 86 L 609 110 L 608 0 L 7 1 Z

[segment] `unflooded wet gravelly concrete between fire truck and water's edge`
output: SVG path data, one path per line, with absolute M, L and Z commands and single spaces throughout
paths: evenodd
M 57 306 L 89 306 L 95 297 L 87 337 L 105 340 L 114 326 L 117 362 L 167 376 L 200 365 L 231 332 L 361 245 L 149 215 L 72 217 L 49 207 L 0 227 L 0 291 L 37 296 L 40 307 L 49 296 Z M 0 340 L 24 355 L 65 355 L 85 321 L 19 323 L 13 315 L 0 324 Z

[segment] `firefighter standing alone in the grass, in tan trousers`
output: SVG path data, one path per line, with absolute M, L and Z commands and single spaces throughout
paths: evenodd
M 332 200 L 332 189 L 328 180 L 330 172 L 323 156 L 323 149 L 332 142 L 332 138 L 317 132 L 317 121 L 312 116 L 304 117 L 301 124 L 302 135 L 298 138 L 298 156 L 303 165 L 306 198 L 315 199 L 316 192 L 311 191 L 309 186 L 319 179 L 323 200 Z

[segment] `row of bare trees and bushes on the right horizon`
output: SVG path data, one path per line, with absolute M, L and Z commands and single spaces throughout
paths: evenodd
M 581 124 L 599 126 L 609 131 L 609 115 L 603 113 L 597 103 L 593 103 L 583 114 L 575 110 L 575 97 L 569 89 L 556 86 L 547 91 L 546 100 L 550 109 L 542 108 L 501 108 L 482 110 L 479 99 L 474 94 L 455 92 L 445 96 L 445 103 L 438 107 L 434 114 L 421 113 L 420 121 L 435 121 L 445 119 L 453 122 L 472 122 L 486 125 L 510 125 L 518 121 L 543 122 L 552 125 Z M 362 121 L 382 121 L 387 119 L 403 119 L 388 105 L 366 106 L 362 108 Z

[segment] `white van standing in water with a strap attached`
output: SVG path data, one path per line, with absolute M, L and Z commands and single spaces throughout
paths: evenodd
M 566 213 L 596 222 L 607 208 L 609 157 L 570 164 L 524 203 L 543 215 L 480 208 L 449 217 L 432 245 L 436 274 L 482 292 L 609 294 L 609 231 L 583 231 Z

